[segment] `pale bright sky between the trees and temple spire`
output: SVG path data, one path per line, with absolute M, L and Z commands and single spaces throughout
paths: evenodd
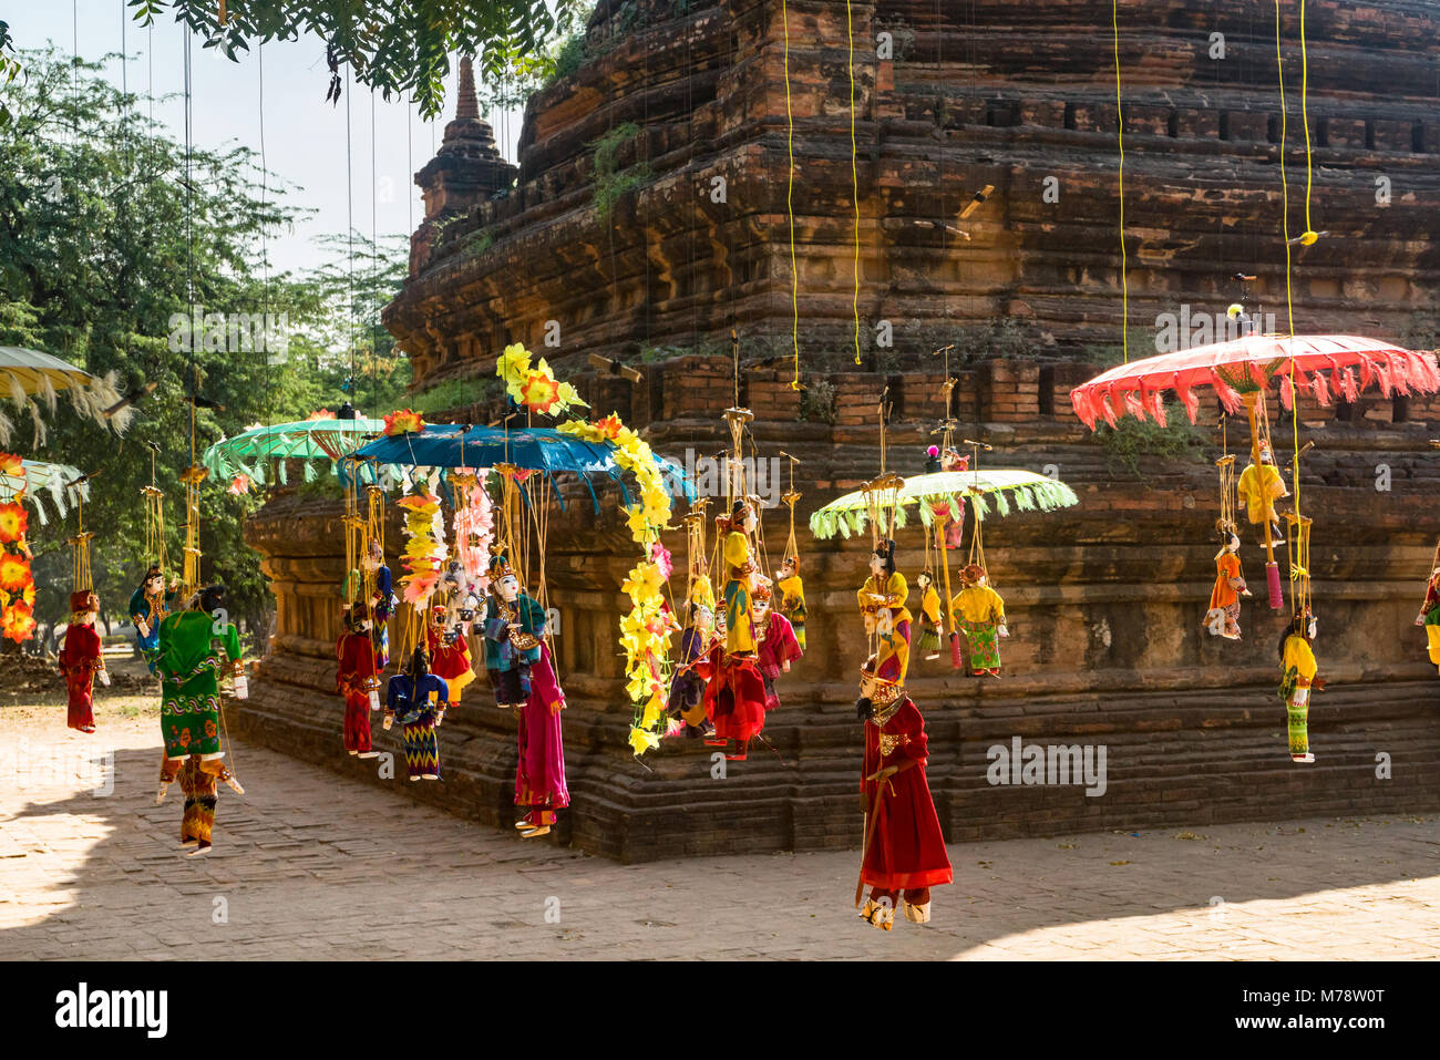
M 125 0 L 72 0 L 60 3 L 7 4 L 4 17 L 17 49 L 43 48 L 53 42 L 71 52 L 78 42 L 85 59 L 96 60 L 114 53 L 108 75 L 121 84 L 121 23 L 125 24 L 125 50 L 130 55 L 130 91 L 144 96 L 154 84 L 156 120 L 167 125 L 176 140 L 184 140 L 184 37 L 174 22 L 160 22 L 145 29 L 130 22 Z M 78 29 L 76 17 L 78 13 Z M 168 16 L 164 16 L 168 17 Z M 153 43 L 153 56 L 151 56 Z M 271 43 L 265 49 L 265 157 L 271 173 L 285 184 L 298 186 L 288 193 L 297 206 L 317 213 L 298 223 L 294 232 L 269 242 L 271 268 L 298 271 L 314 265 L 321 255 L 314 238 L 344 233 L 346 196 L 346 101 L 325 102 L 330 71 L 325 46 L 317 36 L 294 43 Z M 192 114 L 194 141 L 204 147 L 236 143 L 256 151 L 261 145 L 259 62 L 252 46 L 248 56 L 230 62 L 215 49 L 192 40 Z M 350 166 L 351 216 L 354 228 L 372 232 L 372 202 L 376 228 L 382 236 L 413 230 L 423 207 L 413 173 L 433 156 L 433 144 L 455 117 L 454 76 L 446 85 L 445 114 L 425 122 L 408 101 L 386 102 L 376 94 L 374 138 L 370 135 L 372 92 L 356 85 L 350 94 Z M 160 102 L 158 96 L 176 98 Z M 491 112 L 501 153 L 514 161 L 520 137 L 518 112 Z M 409 125 L 409 147 L 406 145 Z M 372 143 L 374 164 L 372 169 Z

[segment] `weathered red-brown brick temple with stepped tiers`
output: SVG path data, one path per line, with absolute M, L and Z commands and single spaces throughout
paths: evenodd
M 1297 26 L 1283 26 L 1282 122 L 1273 6 L 1182 7 L 1122 9 L 1130 356 L 1155 351 L 1164 314 L 1223 315 L 1237 300 L 1286 327 L 1282 125 L 1290 233 L 1305 229 Z M 1300 333 L 1436 344 L 1436 7 L 1308 6 L 1312 222 L 1325 235 L 1293 248 Z M 1056 471 L 1080 504 L 986 521 L 1011 629 L 1001 680 L 965 678 L 946 660 L 912 665 L 952 841 L 1440 807 L 1440 678 L 1413 625 L 1437 530 L 1440 457 L 1427 439 L 1440 429 L 1440 399 L 1302 402 L 1302 439 L 1315 441 L 1302 485 L 1316 517 L 1316 654 L 1329 687 L 1310 711 L 1318 760 L 1296 766 L 1274 691 L 1289 612 L 1263 603 L 1254 533 L 1241 552 L 1259 586 L 1241 615 L 1244 639 L 1201 625 L 1214 580 L 1218 405 L 1202 400 L 1194 444 L 1165 459 L 1125 459 L 1068 406 L 1122 334 L 1110 4 L 851 10 L 854 62 L 844 3 L 789 3 L 786 49 L 778 0 L 602 0 L 588 60 L 530 99 L 514 164 L 462 66 L 455 120 L 416 174 L 426 216 L 409 281 L 384 313 L 418 390 L 458 382 L 464 393 L 472 382 L 474 400 L 431 419 L 497 418 L 495 357 L 524 341 L 598 415 L 618 412 L 684 464 L 724 444 L 734 331 L 759 455 L 801 461 L 804 521 L 878 472 L 883 393 L 890 468 L 922 470 L 945 415 L 945 361 L 932 351 L 953 346 L 950 412 L 962 436 L 994 446 L 982 465 Z M 1211 58 L 1217 33 L 1224 58 Z M 994 192 L 962 220 L 985 186 Z M 791 387 L 792 275 L 804 392 Z M 628 363 L 641 382 L 596 369 L 589 354 Z M 1282 464 L 1290 434 L 1289 419 L 1274 423 Z M 1228 442 L 1244 451 L 1243 423 L 1231 422 Z M 278 632 L 252 699 L 238 704 L 239 729 L 370 775 L 341 749 L 333 694 L 338 516 L 281 493 L 248 526 Z M 779 683 L 783 707 L 766 726 L 776 753 L 755 749 L 717 779 L 698 742 L 631 756 L 615 641 L 636 549 L 613 503 L 599 517 L 579 503 L 554 518 L 547 570 L 562 616 L 572 791 L 560 840 L 624 860 L 858 845 L 852 703 L 864 634 L 854 592 L 868 537 L 799 531 L 809 650 Z M 786 531 L 783 508 L 765 514 L 772 563 Z M 683 534 L 667 544 L 683 579 Z M 901 530 L 899 544 L 913 583 L 920 531 Z M 988 750 L 1017 736 L 1104 745 L 1106 794 L 992 786 Z M 484 680 L 441 739 L 445 783 L 415 796 L 508 828 L 514 719 L 491 704 Z

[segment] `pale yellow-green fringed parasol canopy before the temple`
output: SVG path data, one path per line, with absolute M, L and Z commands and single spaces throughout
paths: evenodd
M 930 506 L 945 504 L 956 494 L 971 503 L 979 518 L 989 514 L 989 501 L 995 503 L 995 511 L 1002 517 L 1009 514 L 1012 503 L 1020 511 L 1037 508 L 1053 511 L 1080 503 L 1074 490 L 1064 482 L 1037 475 L 1034 471 L 1011 468 L 937 471 L 929 475 L 913 475 L 906 478 L 899 490 L 877 490 L 874 500 L 881 511 L 894 510 L 897 527 L 906 526 L 906 508 L 914 506 L 920 507 L 920 521 L 930 526 L 935 521 Z M 870 520 L 870 497 L 871 494 L 867 494 L 865 490 L 855 490 L 831 501 L 811 516 L 811 533 L 821 540 L 834 537 L 837 533 L 841 537 L 863 533 Z

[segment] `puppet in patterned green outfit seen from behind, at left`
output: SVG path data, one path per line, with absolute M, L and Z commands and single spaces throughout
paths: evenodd
M 196 759 L 200 772 L 225 781 L 236 795 L 243 795 L 245 788 L 225 765 L 220 749 L 220 674 L 233 674 L 236 699 L 249 696 L 240 635 L 233 622 L 225 621 L 225 586 L 206 588 L 189 611 L 160 624 L 156 668 L 161 681 L 160 732 L 166 745 L 156 802 L 164 801 L 186 758 Z M 209 843 L 203 850 L 209 850 Z

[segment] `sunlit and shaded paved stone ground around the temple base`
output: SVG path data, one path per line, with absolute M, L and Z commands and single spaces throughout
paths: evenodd
M 186 858 L 151 701 L 96 716 L 0 707 L 0 958 L 1440 956 L 1433 817 L 953 845 L 933 922 L 884 933 L 851 909 L 855 853 L 619 866 L 246 745 L 245 796 L 220 788 L 216 850 Z

